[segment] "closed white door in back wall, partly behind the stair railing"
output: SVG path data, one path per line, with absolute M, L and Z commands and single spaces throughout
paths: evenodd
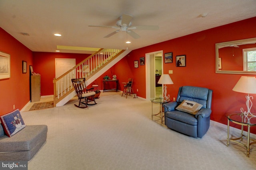
M 62 74 L 70 70 L 76 66 L 76 59 L 55 59 L 55 76 L 56 78 L 60 77 Z M 71 78 L 70 74 L 68 74 L 67 77 L 61 79 L 61 84 L 58 85 L 59 92 L 62 92 L 67 88 L 64 85 L 64 82 L 66 84 L 71 85 Z M 69 83 L 68 83 L 69 82 Z

